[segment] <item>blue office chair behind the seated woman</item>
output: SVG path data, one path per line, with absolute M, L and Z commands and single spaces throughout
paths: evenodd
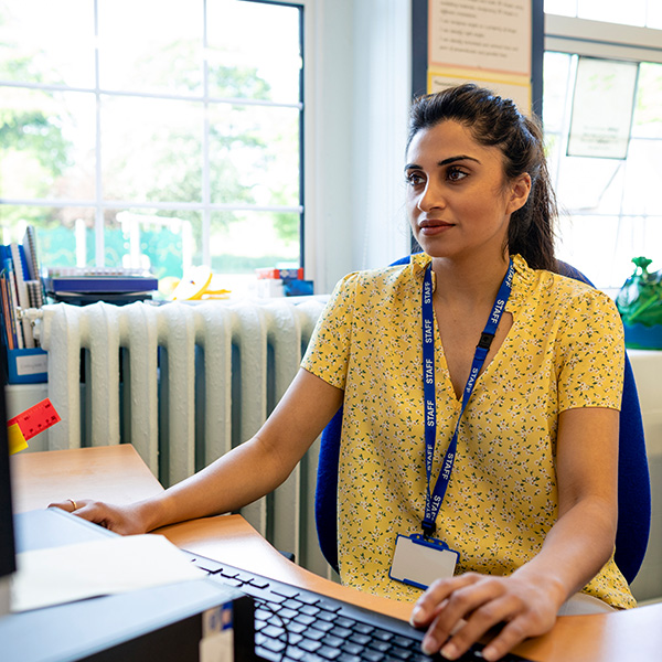
M 409 256 L 395 265 L 407 264 Z M 560 263 L 560 273 L 569 278 L 592 284 L 580 271 Z M 338 572 L 338 463 L 342 407 L 324 428 L 320 445 L 314 514 L 320 548 L 329 565 Z M 651 484 L 643 423 L 632 366 L 626 355 L 623 395 L 620 412 L 618 466 L 618 528 L 615 559 L 623 577 L 631 584 L 645 554 L 651 524 Z

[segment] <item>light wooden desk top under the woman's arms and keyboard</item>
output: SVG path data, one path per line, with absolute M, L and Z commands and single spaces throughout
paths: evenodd
M 115 503 L 162 490 L 131 446 L 58 450 L 12 457 L 14 508 L 90 498 Z M 180 547 L 406 620 L 410 606 L 360 592 L 290 563 L 239 515 L 161 528 Z M 560 617 L 544 637 L 516 652 L 540 662 L 634 662 L 662 658 L 662 605 L 618 613 Z

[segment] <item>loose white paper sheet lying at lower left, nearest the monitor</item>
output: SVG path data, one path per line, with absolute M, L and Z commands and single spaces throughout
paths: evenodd
M 111 537 L 17 555 L 12 611 L 200 579 L 193 566 L 162 535 Z

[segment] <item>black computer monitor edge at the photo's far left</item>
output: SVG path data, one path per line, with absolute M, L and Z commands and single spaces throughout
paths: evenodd
M 0 345 L 0 617 L 9 612 L 9 579 L 17 568 L 4 402 L 6 374 L 4 348 Z

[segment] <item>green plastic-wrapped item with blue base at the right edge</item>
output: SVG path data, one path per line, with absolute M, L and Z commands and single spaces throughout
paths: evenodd
M 662 271 L 649 273 L 652 260 L 634 257 L 634 273 L 616 298 L 626 330 L 626 345 L 662 349 Z

